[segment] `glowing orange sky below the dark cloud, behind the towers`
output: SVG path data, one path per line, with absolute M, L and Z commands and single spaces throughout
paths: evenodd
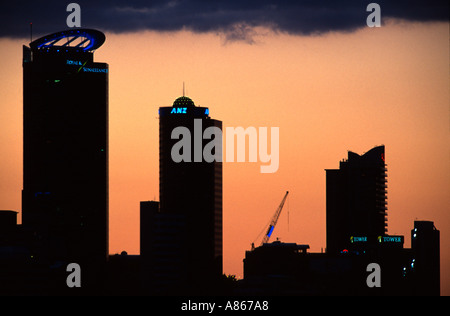
M 277 173 L 262 175 L 259 164 L 224 163 L 224 273 L 242 276 L 245 250 L 286 190 L 289 229 L 285 210 L 273 239 L 324 248 L 324 169 L 337 167 L 346 150 L 363 153 L 384 144 L 389 233 L 408 237 L 415 218 L 435 222 L 442 233 L 445 294 L 447 26 L 389 24 L 322 37 L 267 31 L 254 45 L 188 31 L 106 33 L 96 55 L 110 65 L 110 253 L 138 253 L 139 201 L 158 195 L 154 118 L 160 106 L 182 94 L 185 81 L 186 95 L 213 108 L 224 126 L 280 127 Z M 11 154 L 2 160 L 0 208 L 20 212 L 21 77 L 15 71 L 20 74 L 17 56 L 28 42 L 1 43 L 11 49 L 2 53 L 9 76 L 0 79 L 7 118 L 1 140 Z M 182 52 L 169 54 L 177 47 Z

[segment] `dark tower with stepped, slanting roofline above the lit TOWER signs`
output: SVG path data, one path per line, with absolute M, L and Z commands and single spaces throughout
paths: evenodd
M 377 242 L 387 233 L 385 148 L 348 152 L 337 170 L 326 170 L 327 252 L 348 249 L 352 239 Z

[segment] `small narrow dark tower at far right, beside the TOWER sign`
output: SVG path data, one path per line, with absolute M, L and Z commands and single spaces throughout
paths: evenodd
M 414 229 L 411 231 L 411 248 L 413 259 L 409 267 L 415 281 L 414 294 L 439 296 L 441 290 L 440 232 L 433 222 L 414 221 Z

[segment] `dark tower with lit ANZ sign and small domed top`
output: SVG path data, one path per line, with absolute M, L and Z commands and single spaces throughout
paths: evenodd
M 159 194 L 162 213 L 186 218 L 186 249 L 190 273 L 222 273 L 222 162 L 207 162 L 203 139 L 208 127 L 222 129 L 211 119 L 209 109 L 195 106 L 188 97 L 177 98 L 171 107 L 159 109 Z M 174 161 L 172 150 L 180 140 L 172 136 L 177 127 L 190 131 L 191 159 Z M 200 135 L 200 136 L 199 136 Z M 216 150 L 222 139 L 216 139 Z M 201 157 L 199 157 L 201 151 Z

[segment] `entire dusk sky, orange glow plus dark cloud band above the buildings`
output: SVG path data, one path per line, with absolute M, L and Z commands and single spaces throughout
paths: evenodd
M 286 191 L 272 240 L 326 247 L 325 169 L 384 144 L 388 232 L 410 247 L 414 220 L 441 231 L 450 295 L 449 23 L 446 1 L 79 1 L 109 64 L 110 253 L 139 253 L 139 202 L 159 199 L 158 108 L 182 95 L 224 127 L 279 127 L 279 169 L 224 163 L 224 273 Z M 338 4 L 339 3 L 339 4 Z M 3 6 L 3 4 L 2 4 Z M 67 29 L 66 4 L 0 10 L 0 209 L 21 211 L 22 45 Z M 19 221 L 21 220 L 19 213 Z

